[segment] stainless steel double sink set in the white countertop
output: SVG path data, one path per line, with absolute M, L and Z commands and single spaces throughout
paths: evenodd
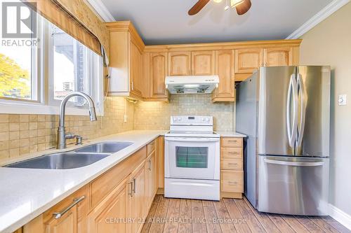
M 5 167 L 29 169 L 74 169 L 98 162 L 99 160 L 112 155 L 112 153 L 116 153 L 132 144 L 133 143 L 127 141 L 95 143 L 65 153 L 54 153 L 21 162 L 15 162 L 13 164 L 8 164 Z

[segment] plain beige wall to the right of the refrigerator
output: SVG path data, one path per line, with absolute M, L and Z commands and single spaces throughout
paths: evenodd
M 330 64 L 331 185 L 330 202 L 351 215 L 351 103 L 338 106 L 338 94 L 351 97 L 351 3 L 303 35 L 300 64 Z

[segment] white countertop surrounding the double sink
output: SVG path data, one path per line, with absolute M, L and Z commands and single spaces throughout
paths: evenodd
M 13 232 L 22 227 L 165 132 L 166 130 L 133 130 L 84 143 L 82 146 L 98 141 L 131 141 L 133 145 L 77 169 L 0 167 L 0 232 Z M 67 150 L 72 148 L 65 149 Z M 63 150 L 50 150 L 46 154 L 58 151 Z

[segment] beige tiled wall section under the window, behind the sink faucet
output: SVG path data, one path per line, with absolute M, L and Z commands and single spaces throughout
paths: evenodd
M 67 115 L 67 132 L 95 139 L 133 129 L 133 104 L 123 97 L 107 97 L 104 108 L 105 115 L 98 116 L 95 122 L 85 115 Z M 128 115 L 126 123 L 125 110 Z M 0 114 L 0 163 L 55 148 L 57 128 L 58 115 Z M 74 139 L 67 141 L 73 142 Z

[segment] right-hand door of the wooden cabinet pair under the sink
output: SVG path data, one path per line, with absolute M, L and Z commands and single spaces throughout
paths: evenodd
M 146 215 L 145 194 L 145 164 L 140 164 L 131 174 L 131 194 L 128 195 L 128 218 L 133 222 L 128 224 L 131 233 L 139 232 L 143 227 Z

